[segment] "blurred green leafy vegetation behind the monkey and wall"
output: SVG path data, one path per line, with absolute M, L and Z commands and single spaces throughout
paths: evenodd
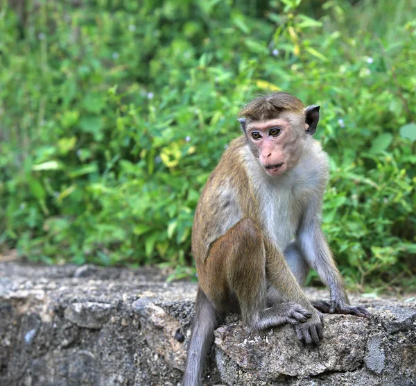
M 321 106 L 347 285 L 416 288 L 415 1 L 0 4 L 3 251 L 193 276 L 193 212 L 236 114 L 284 90 Z

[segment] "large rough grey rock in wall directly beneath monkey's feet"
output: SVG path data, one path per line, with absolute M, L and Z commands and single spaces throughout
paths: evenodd
M 241 325 L 234 323 L 216 330 L 215 344 L 241 369 L 261 380 L 315 376 L 359 367 L 365 353 L 367 326 L 367 319 L 326 315 L 325 339 L 319 346 L 303 346 L 291 326 L 247 335 Z

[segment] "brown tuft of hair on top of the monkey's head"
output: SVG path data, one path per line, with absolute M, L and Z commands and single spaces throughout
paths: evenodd
M 245 117 L 251 121 L 261 121 L 272 119 L 283 110 L 302 112 L 304 105 L 300 99 L 287 92 L 272 92 L 261 95 L 246 104 L 240 110 L 239 117 Z

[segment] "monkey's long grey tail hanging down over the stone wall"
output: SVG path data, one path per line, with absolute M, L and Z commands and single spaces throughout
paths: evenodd
M 207 295 L 198 288 L 195 302 L 196 313 L 193 318 L 191 342 L 188 348 L 187 366 L 185 367 L 183 386 L 200 385 L 205 358 L 214 342 L 216 312 Z

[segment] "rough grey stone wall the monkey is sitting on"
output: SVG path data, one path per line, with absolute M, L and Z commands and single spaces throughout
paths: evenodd
M 195 283 L 168 284 L 157 269 L 0 262 L 0 385 L 177 385 L 195 296 Z M 371 320 L 325 315 L 317 347 L 302 346 L 291 326 L 248 335 L 230 314 L 204 383 L 416 385 L 413 296 L 351 296 Z

